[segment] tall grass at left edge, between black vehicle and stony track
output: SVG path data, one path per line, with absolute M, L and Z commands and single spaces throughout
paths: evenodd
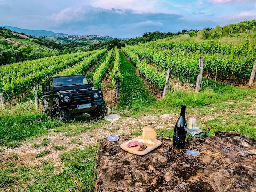
M 62 124 L 37 111 L 31 99 L 16 103 L 15 106 L 0 110 L 0 146 L 17 147 L 19 141 L 47 133 L 48 129 Z

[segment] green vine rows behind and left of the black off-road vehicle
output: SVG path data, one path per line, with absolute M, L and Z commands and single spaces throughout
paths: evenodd
M 30 93 L 34 83 L 41 84 L 49 76 L 86 72 L 105 52 L 101 50 L 56 56 L 52 57 L 51 63 L 46 59 L 38 59 L 12 64 L 12 70 L 2 75 L 5 101 Z M 7 69 L 7 65 L 2 67 Z

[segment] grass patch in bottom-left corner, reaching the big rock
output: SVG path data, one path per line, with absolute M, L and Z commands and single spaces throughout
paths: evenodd
M 62 153 L 63 170 L 59 174 L 54 163 L 46 160 L 33 167 L 0 164 L 0 191 L 93 191 L 97 150 L 98 146 L 90 146 Z

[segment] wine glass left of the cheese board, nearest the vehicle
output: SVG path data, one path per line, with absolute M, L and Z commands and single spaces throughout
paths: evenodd
M 116 105 L 108 105 L 105 113 L 104 118 L 107 121 L 110 121 L 112 123 L 112 133 L 114 131 L 113 123 L 114 121 L 118 120 L 120 118 L 120 114 L 116 110 Z M 107 138 L 109 141 L 117 141 L 119 137 L 117 135 L 111 135 Z

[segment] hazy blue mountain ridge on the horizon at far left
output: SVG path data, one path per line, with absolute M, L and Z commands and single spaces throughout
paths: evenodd
M 25 33 L 26 35 L 33 35 L 33 36 L 47 36 L 47 37 L 63 37 L 67 36 L 68 34 L 64 33 L 54 33 L 52 31 L 46 31 L 46 30 L 29 30 L 29 29 L 20 29 L 18 27 L 11 27 L 11 26 L 0 26 L 0 27 L 5 27 L 7 29 L 10 29 L 12 31 L 18 32 L 18 33 Z

